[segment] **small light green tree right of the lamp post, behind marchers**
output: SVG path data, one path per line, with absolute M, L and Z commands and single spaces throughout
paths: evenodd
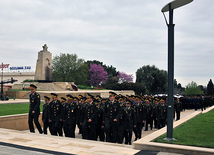
M 188 83 L 186 86 L 186 90 L 184 92 L 185 95 L 201 95 L 203 94 L 203 91 L 200 89 L 200 87 L 197 85 L 196 82 Z

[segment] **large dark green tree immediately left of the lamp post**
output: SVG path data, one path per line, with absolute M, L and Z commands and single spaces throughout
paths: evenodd
M 165 93 L 167 90 L 167 71 L 153 66 L 143 66 L 136 72 L 136 83 L 142 83 L 150 94 Z

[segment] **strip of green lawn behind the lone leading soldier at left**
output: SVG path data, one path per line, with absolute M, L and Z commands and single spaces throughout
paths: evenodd
M 42 112 L 42 104 L 40 104 L 40 110 Z M 1 104 L 0 105 L 0 116 L 24 114 L 28 113 L 29 104 Z

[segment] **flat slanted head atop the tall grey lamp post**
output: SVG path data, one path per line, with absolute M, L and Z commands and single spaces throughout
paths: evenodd
M 168 4 L 166 4 L 162 9 L 161 12 L 167 12 L 170 10 L 170 5 L 171 5 L 171 10 L 174 10 L 176 8 L 179 8 L 181 6 L 184 6 L 186 4 L 191 3 L 193 0 L 174 0 Z

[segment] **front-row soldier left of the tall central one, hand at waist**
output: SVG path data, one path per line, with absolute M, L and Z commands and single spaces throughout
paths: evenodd
M 98 109 L 93 102 L 94 96 L 91 94 L 87 94 L 87 106 L 84 109 L 83 112 L 83 138 L 89 139 L 89 140 L 97 140 L 96 139 L 96 127 L 97 127 L 97 114 Z

